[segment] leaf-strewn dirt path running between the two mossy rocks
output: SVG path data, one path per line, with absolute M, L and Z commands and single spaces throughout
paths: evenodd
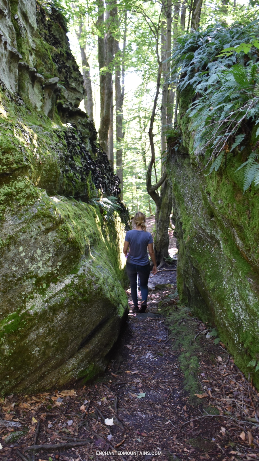
M 179 303 L 175 271 L 150 284 L 148 312 L 130 312 L 104 376 L 5 397 L 1 461 L 259 459 L 253 383 Z

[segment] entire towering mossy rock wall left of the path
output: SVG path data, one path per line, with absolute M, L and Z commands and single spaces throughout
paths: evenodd
M 128 312 L 118 177 L 78 105 L 61 14 L 0 0 L 0 391 L 103 371 Z M 93 200 L 94 199 L 94 200 Z M 125 214 L 122 213 L 122 215 Z

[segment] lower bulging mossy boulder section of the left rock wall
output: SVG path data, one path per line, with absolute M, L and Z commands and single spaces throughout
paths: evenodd
M 6 213 L 0 238 L 0 390 L 59 387 L 106 367 L 128 301 L 123 226 L 47 197 Z

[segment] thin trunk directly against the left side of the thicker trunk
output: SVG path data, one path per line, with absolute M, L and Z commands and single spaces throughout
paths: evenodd
M 99 65 L 99 76 L 100 76 L 100 118 L 103 117 L 104 112 L 104 100 L 105 100 L 105 72 L 103 69 L 106 65 L 106 44 L 105 44 L 105 21 L 104 12 L 105 6 L 103 0 L 98 0 L 98 65 Z

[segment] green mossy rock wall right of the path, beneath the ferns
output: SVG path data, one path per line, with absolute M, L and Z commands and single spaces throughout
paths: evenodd
M 219 337 L 246 375 L 259 386 L 259 196 L 245 194 L 236 172 L 244 161 L 233 155 L 226 167 L 207 175 L 195 163 L 190 119 L 192 92 L 178 94 L 179 133 L 171 144 L 169 174 L 176 226 L 178 290 L 182 301 Z M 177 148 L 176 148 L 177 146 Z M 249 143 L 248 143 L 249 148 Z

